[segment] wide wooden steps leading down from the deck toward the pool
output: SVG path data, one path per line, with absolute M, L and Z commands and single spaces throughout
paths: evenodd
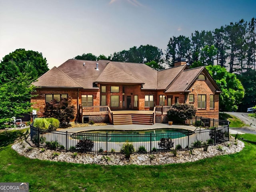
M 114 125 L 142 124 L 152 125 L 153 114 L 113 114 Z

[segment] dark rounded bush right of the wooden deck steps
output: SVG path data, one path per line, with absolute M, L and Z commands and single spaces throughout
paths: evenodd
M 196 115 L 196 109 L 192 105 L 175 103 L 173 107 L 168 110 L 167 116 L 170 121 L 174 123 L 184 123 L 187 119 L 192 119 Z

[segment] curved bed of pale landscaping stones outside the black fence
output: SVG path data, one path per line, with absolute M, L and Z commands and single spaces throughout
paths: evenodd
M 228 144 L 230 144 L 229 147 Z M 218 150 L 218 146 L 222 146 L 222 151 Z M 35 147 L 30 141 L 30 137 L 28 137 L 27 140 L 16 141 L 15 144 L 12 145 L 12 149 L 16 150 L 18 154 L 31 159 L 100 165 L 162 165 L 193 162 L 218 155 L 234 154 L 241 151 L 243 148 L 244 142 L 240 140 L 235 141 L 234 137 L 231 136 L 228 142 L 216 146 L 209 146 L 207 152 L 205 152 L 203 148 L 198 148 L 195 149 L 192 154 L 189 154 L 187 150 L 177 150 L 176 156 L 174 156 L 172 152 L 161 152 L 155 154 L 131 154 L 130 159 L 126 159 L 124 154 L 106 155 L 78 153 L 77 156 L 74 157 L 74 153 L 72 152 L 60 152 L 48 149 L 41 152 L 41 149 Z M 54 152 L 57 152 L 58 156 L 53 158 Z

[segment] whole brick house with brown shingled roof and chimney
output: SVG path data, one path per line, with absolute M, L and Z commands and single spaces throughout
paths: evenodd
M 52 99 L 71 96 L 76 120 L 110 121 L 111 112 L 153 112 L 154 122 L 166 122 L 166 110 L 174 103 L 192 104 L 196 115 L 218 119 L 220 88 L 206 68 L 189 69 L 180 60 L 173 68 L 154 70 L 145 64 L 108 60 L 67 60 L 36 82 L 33 108 L 43 116 Z M 141 113 L 143 113 L 141 112 Z M 132 113 L 132 112 L 131 112 Z

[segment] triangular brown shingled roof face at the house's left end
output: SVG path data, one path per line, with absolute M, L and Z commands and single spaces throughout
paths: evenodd
M 33 85 L 37 87 L 82 88 L 80 84 L 56 67 L 40 76 Z

